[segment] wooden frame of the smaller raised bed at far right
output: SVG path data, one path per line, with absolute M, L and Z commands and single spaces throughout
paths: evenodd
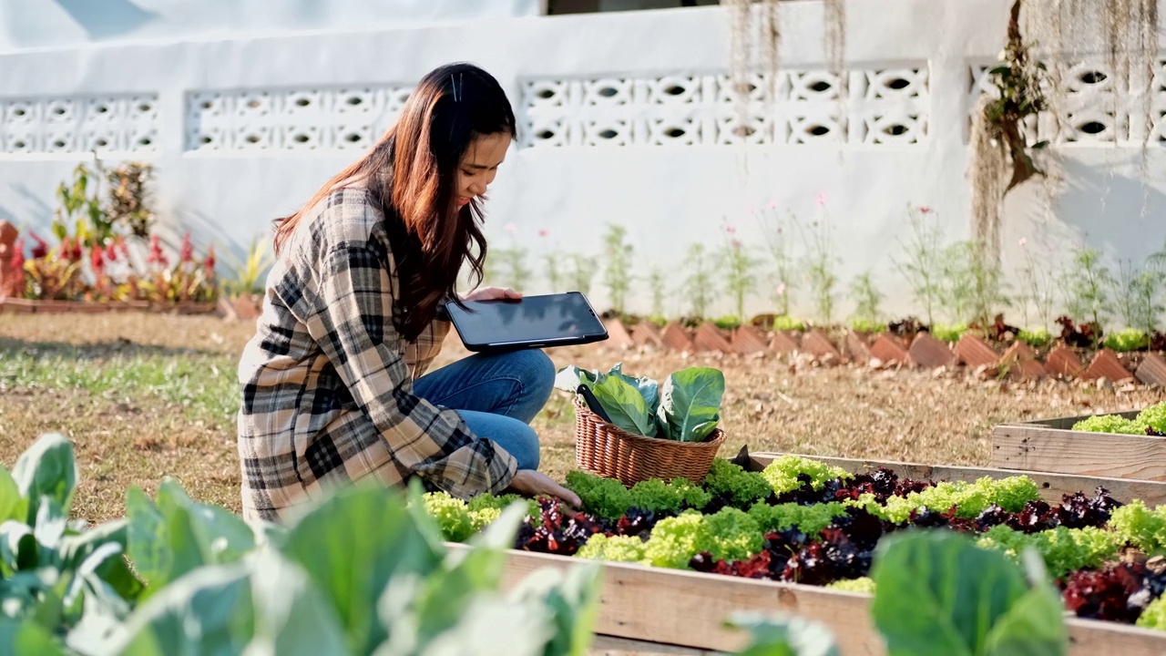
M 1107 414 L 1133 419 L 1138 412 Z M 992 430 L 991 466 L 1129 479 L 1131 484 L 1138 480 L 1166 481 L 1166 438 L 1072 430 L 1074 424 L 1089 417 L 1002 424 Z M 1150 498 L 1145 501 L 1151 502 Z M 1156 500 L 1154 503 L 1166 501 Z

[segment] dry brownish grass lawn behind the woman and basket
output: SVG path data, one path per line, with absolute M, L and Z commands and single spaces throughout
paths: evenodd
M 75 514 L 122 514 L 125 491 L 153 494 L 164 476 L 199 501 L 239 509 L 234 365 L 253 326 L 208 316 L 0 314 L 0 463 L 12 467 L 37 435 L 76 444 L 82 482 Z M 962 372 L 798 367 L 774 358 L 616 351 L 549 351 L 556 364 L 663 379 L 693 364 L 725 372 L 722 454 L 751 451 L 986 463 L 990 432 L 1007 420 L 1137 409 L 1161 390 L 1046 381 L 1002 384 Z M 464 357 L 454 336 L 437 365 Z M 574 465 L 574 414 L 556 392 L 536 420 L 545 469 Z

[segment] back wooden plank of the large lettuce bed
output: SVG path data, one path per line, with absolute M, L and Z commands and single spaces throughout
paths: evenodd
M 960 465 L 922 465 L 918 462 L 898 462 L 891 460 L 870 460 L 855 458 L 826 458 L 820 455 L 785 454 L 773 452 L 751 453 L 752 468 L 764 469 L 766 465 L 782 455 L 799 455 L 838 467 L 851 474 L 863 474 L 885 467 L 899 476 L 934 481 L 974 482 L 984 476 L 1004 479 L 1007 476 L 1028 476 L 1037 483 L 1041 498 L 1060 503 L 1062 495 L 1081 491 L 1091 495 L 1098 487 L 1128 503 L 1140 498 L 1149 504 L 1166 504 L 1166 482 L 1144 481 L 1110 476 L 1086 476 L 1079 474 L 1059 474 L 1049 472 L 1032 472 L 1025 469 L 996 469 L 985 467 L 964 467 Z

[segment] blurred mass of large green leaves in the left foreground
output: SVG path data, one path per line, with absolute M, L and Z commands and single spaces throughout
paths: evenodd
M 416 484 L 408 502 L 352 486 L 285 526 L 248 525 L 163 481 L 154 501 L 131 489 L 125 519 L 83 530 L 68 521 L 76 480 L 59 435 L 40 439 L 12 475 L 0 468 L 5 654 L 588 650 L 595 565 L 540 571 L 499 592 L 526 502 L 450 554 Z

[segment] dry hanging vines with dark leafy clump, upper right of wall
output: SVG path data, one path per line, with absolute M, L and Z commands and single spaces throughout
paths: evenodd
M 1153 124 L 1151 85 L 1158 55 L 1158 22 L 1157 0 L 1037 0 L 1027 5 L 1013 0 L 1004 61 L 989 71 L 997 93 L 985 95 L 977 104 L 970 139 L 972 228 L 991 257 L 999 258 L 1000 203 L 1010 190 L 1040 175 L 1049 187 L 1046 203 L 1051 207 L 1055 200 L 1056 181 L 1047 170 L 1055 160 L 1045 158 L 1046 166 L 1038 166 L 1037 153 L 1049 140 L 1060 139 L 1066 128 L 1081 127 L 1073 125 L 1068 111 L 1067 55 L 1107 56 L 1108 72 L 1084 75 L 1101 82 L 1111 77 L 1114 141 L 1142 141 L 1143 177 L 1146 176 L 1145 146 Z M 1034 56 L 1033 44 L 1041 48 L 1045 63 Z M 1130 118 L 1140 119 L 1143 134 L 1132 120 L 1123 123 L 1121 112 L 1124 97 L 1139 88 L 1140 116 Z M 1041 113 L 1051 117 L 1052 134 L 1030 145 L 1028 138 L 1037 132 L 1034 117 Z

